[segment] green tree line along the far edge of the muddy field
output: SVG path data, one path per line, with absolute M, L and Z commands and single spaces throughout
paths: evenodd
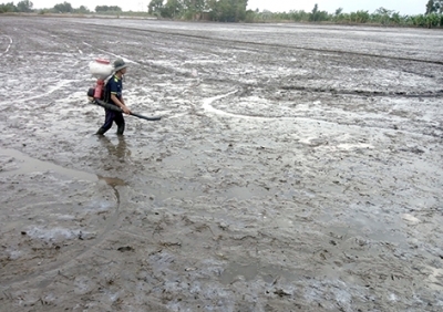
M 247 10 L 248 0 L 151 0 L 147 14 L 165 19 L 181 20 L 210 20 L 219 22 L 328 22 L 352 24 L 382 24 L 405 27 L 443 27 L 443 0 L 427 0 L 423 6 L 423 14 L 401 15 L 399 12 L 379 8 L 374 12 L 359 10 L 344 13 L 342 8 L 333 13 L 322 11 L 315 4 L 310 12 L 291 10 L 289 12 L 271 12 Z M 35 12 L 30 0 L 21 0 L 17 6 L 13 2 L 0 4 L 3 12 Z M 69 2 L 58 3 L 51 9 L 39 11 L 52 13 L 92 13 L 81 6 L 75 9 Z M 97 6 L 96 13 L 124 14 L 116 6 Z M 142 12 L 140 12 L 142 14 Z M 146 13 L 146 12 L 145 12 Z

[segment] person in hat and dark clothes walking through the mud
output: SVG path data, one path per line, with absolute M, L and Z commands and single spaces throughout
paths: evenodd
M 130 108 L 123 100 L 123 75 L 126 73 L 127 64 L 122 60 L 117 59 L 114 62 L 114 73 L 106 83 L 104 101 L 112 105 L 116 105 L 122 108 L 123 113 L 131 115 Z M 104 135 L 111 127 L 112 124 L 117 125 L 117 135 L 123 135 L 125 129 L 125 121 L 121 112 L 115 112 L 105 108 L 104 124 L 96 132 L 97 135 Z

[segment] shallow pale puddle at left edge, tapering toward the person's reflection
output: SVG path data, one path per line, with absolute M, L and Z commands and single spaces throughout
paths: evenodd
M 42 173 L 42 171 L 54 171 L 56 174 L 63 175 L 65 177 L 79 179 L 79 180 L 87 180 L 87 181 L 97 181 L 99 178 L 96 175 L 92 175 L 85 171 L 79 171 L 73 169 L 66 169 L 61 166 L 42 162 L 32 157 L 24 155 L 16 149 L 1 148 L 0 155 L 10 156 L 17 159 L 19 164 L 18 169 L 11 169 L 8 171 L 0 173 L 0 176 L 9 176 L 9 175 L 20 175 L 20 174 L 30 174 L 30 173 Z

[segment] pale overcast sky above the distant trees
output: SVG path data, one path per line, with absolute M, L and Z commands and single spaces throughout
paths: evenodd
M 20 0 L 13 0 L 17 4 Z M 123 11 L 147 11 L 147 6 L 151 0 L 30 0 L 34 9 L 49 9 L 64 1 L 71 3 L 73 8 L 84 6 L 91 11 L 96 6 L 119 6 Z M 165 0 L 166 1 L 166 0 Z M 4 2 L 10 2 L 4 0 Z M 0 3 L 3 3 L 0 0 Z M 374 12 L 383 7 L 388 10 L 393 10 L 402 15 L 423 14 L 427 0 L 248 0 L 247 9 L 259 11 L 269 10 L 271 12 L 288 12 L 290 10 L 312 11 L 315 4 L 318 4 L 319 10 L 336 12 L 342 8 L 343 12 L 356 12 L 358 10 Z

